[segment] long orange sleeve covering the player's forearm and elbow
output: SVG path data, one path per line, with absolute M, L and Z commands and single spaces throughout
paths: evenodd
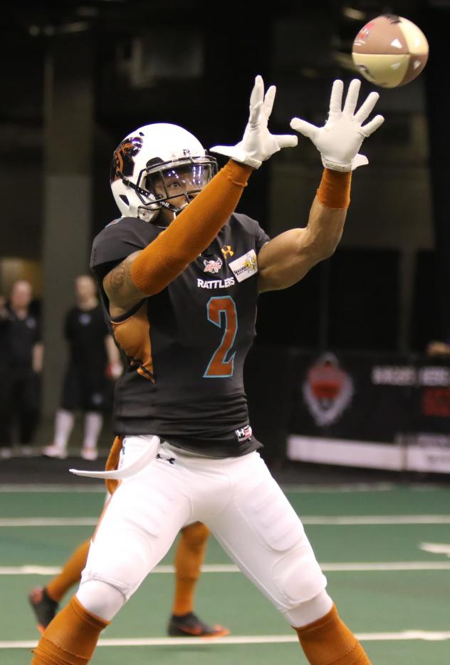
M 230 160 L 178 217 L 134 259 L 135 286 L 159 293 L 214 240 L 241 198 L 252 168 Z

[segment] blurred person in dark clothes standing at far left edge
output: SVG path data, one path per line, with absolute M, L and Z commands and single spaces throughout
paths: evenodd
M 0 299 L 0 456 L 9 458 L 13 444 L 23 454 L 39 419 L 43 345 L 36 314 L 31 313 L 30 282 L 19 279 L 7 303 Z

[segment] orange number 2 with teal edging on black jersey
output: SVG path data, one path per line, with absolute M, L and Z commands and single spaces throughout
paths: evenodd
M 206 314 L 211 324 L 224 330 L 221 343 L 211 357 L 204 378 L 226 378 L 233 376 L 234 354 L 227 359 L 229 350 L 234 344 L 238 329 L 238 314 L 236 304 L 231 296 L 210 298 L 206 305 Z

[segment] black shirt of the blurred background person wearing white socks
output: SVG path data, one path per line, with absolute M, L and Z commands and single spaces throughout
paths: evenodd
M 100 304 L 87 310 L 78 306 L 69 309 L 64 334 L 70 346 L 70 364 L 85 372 L 105 372 L 108 364 L 105 337 L 109 333 Z

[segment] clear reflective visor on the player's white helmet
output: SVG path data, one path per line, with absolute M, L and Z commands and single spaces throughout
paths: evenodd
M 170 167 L 147 174 L 145 189 L 159 201 L 178 196 L 189 200 L 191 195 L 202 191 L 213 175 L 211 163 Z

